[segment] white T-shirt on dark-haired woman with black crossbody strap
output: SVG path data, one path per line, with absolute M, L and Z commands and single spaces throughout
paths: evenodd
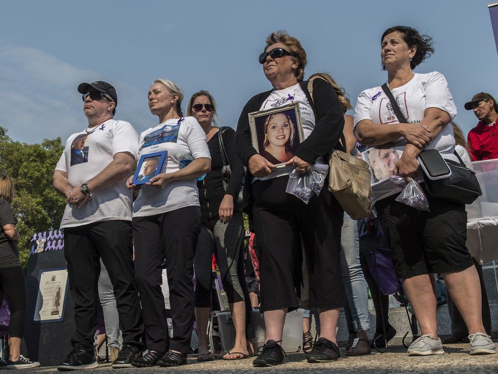
M 438 108 L 453 119 L 457 108 L 443 74 L 434 71 L 428 74 L 417 74 L 406 84 L 391 90 L 401 113 L 408 123 L 420 123 L 424 111 L 428 108 Z M 363 91 L 358 96 L 355 107 L 355 131 L 358 122 L 370 119 L 375 124 L 399 123 L 392 109 L 389 98 L 380 86 Z M 396 146 L 406 144 L 406 139 L 400 137 L 394 141 Z M 458 161 L 454 155 L 455 138 L 453 128 L 446 125 L 439 135 L 425 149 L 436 149 L 445 159 Z

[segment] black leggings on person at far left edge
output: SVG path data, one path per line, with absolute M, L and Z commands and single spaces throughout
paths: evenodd
M 26 281 L 20 266 L 0 269 L 0 301 L 7 300 L 10 309 L 8 336 L 22 339 L 26 317 Z

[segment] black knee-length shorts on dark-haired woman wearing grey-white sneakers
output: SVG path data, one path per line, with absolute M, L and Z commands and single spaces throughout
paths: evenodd
M 406 279 L 429 273 L 451 273 L 474 265 L 467 249 L 465 204 L 429 196 L 430 211 L 395 201 L 397 195 L 375 203 L 390 244 L 394 269 Z

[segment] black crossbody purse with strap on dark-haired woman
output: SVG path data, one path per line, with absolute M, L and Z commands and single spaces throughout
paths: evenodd
M 382 90 L 389 98 L 394 114 L 400 123 L 406 123 L 406 118 L 401 113 L 399 106 L 392 96 L 391 90 L 387 84 L 382 85 Z M 423 151 L 422 151 L 423 152 Z M 454 154 L 460 160 L 457 163 L 452 160 L 445 160 L 448 168 L 451 170 L 451 175 L 438 180 L 431 180 L 424 173 L 425 188 L 429 196 L 439 198 L 441 200 L 459 202 L 463 204 L 472 204 L 479 196 L 483 194 L 476 173 L 467 168 L 456 152 Z

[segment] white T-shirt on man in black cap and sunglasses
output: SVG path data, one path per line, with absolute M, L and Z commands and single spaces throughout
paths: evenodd
M 124 121 L 114 119 L 69 137 L 55 170 L 67 173 L 68 181 L 75 189 L 101 173 L 113 160 L 114 155 L 138 153 L 138 134 Z M 131 191 L 126 179 L 93 192 L 83 206 L 76 208 L 69 203 L 62 216 L 61 228 L 74 227 L 97 221 L 131 220 Z

